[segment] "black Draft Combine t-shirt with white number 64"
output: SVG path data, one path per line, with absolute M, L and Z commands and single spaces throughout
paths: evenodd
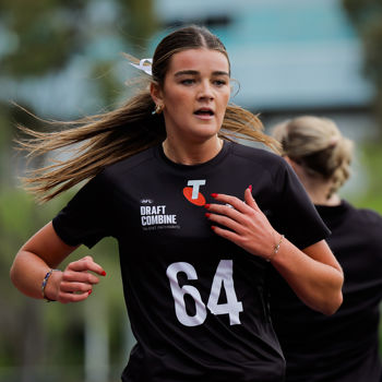
M 211 193 L 249 184 L 275 229 L 299 248 L 329 230 L 290 167 L 225 142 L 207 163 L 170 162 L 162 146 L 107 167 L 53 219 L 71 246 L 118 240 L 136 338 L 123 381 L 282 381 L 285 361 L 267 303 L 270 264 L 214 234 Z

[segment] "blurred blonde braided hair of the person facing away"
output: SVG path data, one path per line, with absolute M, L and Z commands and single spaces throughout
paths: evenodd
M 315 116 L 297 117 L 273 128 L 282 154 L 301 165 L 308 175 L 332 181 L 327 199 L 350 176 L 354 143 L 335 122 Z

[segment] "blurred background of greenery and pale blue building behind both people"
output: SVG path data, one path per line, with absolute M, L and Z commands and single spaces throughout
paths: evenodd
M 109 109 L 138 74 L 121 52 L 151 57 L 164 35 L 190 23 L 220 37 L 236 80 L 231 102 L 260 114 L 266 129 L 314 114 L 356 140 L 345 192 L 382 213 L 380 0 L 2 0 L 0 382 L 118 381 L 134 342 L 111 241 L 92 250 L 108 277 L 84 305 L 31 301 L 11 286 L 15 252 L 71 195 L 38 206 L 20 189 L 25 158 L 13 150 L 15 124 L 45 124 L 12 102 L 55 120 Z

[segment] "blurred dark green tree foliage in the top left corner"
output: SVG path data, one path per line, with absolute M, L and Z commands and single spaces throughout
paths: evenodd
M 89 0 L 0 0 L 0 24 L 7 49 L 1 70 L 9 76 L 38 76 L 64 68 L 73 55 L 83 55 L 88 44 L 111 34 L 144 48 L 155 29 L 152 0 L 107 2 L 110 16 L 94 16 Z M 100 11 L 102 12 L 102 11 Z

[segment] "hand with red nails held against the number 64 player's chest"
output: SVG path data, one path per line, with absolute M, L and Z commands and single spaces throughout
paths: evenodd
M 244 202 L 236 196 L 222 193 L 212 195 L 216 201 L 225 203 L 205 205 L 208 210 L 206 217 L 222 226 L 212 226 L 214 232 L 252 254 L 270 259 L 280 235 L 273 229 L 266 216 L 259 208 L 252 196 L 251 188 L 244 192 Z

